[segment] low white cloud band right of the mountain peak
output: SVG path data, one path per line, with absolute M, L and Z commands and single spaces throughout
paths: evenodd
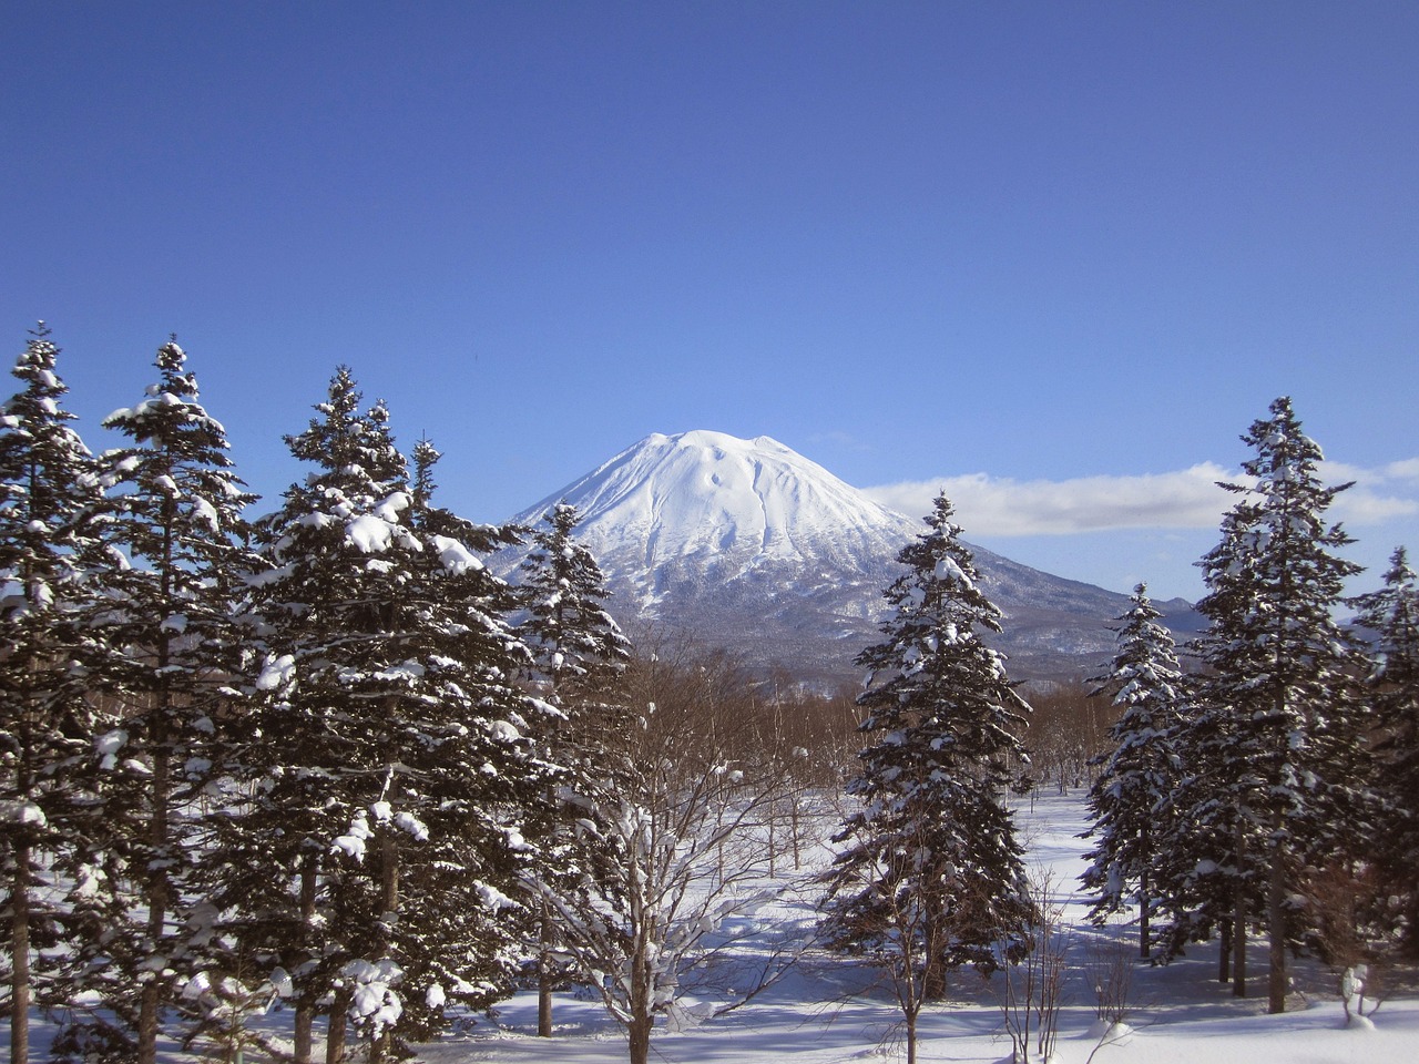
M 1419 514 L 1419 458 L 1378 470 L 1327 462 L 1321 475 L 1330 484 L 1355 482 L 1337 498 L 1332 511 L 1347 525 L 1372 525 Z M 1236 495 L 1218 487 L 1218 481 L 1235 484 L 1242 480 L 1239 471 L 1199 462 L 1175 472 L 1064 481 L 1016 481 L 972 472 L 863 491 L 907 515 L 927 514 L 937 494 L 945 491 L 968 535 L 1063 536 L 1124 528 L 1216 528 L 1236 501 Z

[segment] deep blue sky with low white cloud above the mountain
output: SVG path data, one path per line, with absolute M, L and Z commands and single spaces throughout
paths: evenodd
M 48 323 L 94 448 L 176 333 L 267 499 L 349 365 L 474 519 L 708 428 L 1196 599 L 1287 394 L 1354 590 L 1419 552 L 1410 0 L 4 0 L 0 38 L 0 328 Z

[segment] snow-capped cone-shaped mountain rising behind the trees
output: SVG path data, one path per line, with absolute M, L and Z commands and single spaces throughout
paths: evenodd
M 858 678 L 851 663 L 880 638 L 897 553 L 925 529 L 766 436 L 648 436 L 514 521 L 536 525 L 563 501 L 629 633 L 685 633 L 816 685 Z M 1127 596 L 972 550 L 1006 614 L 993 643 L 1013 678 L 1093 675 L 1110 661 Z M 492 566 L 515 580 L 522 555 Z M 1186 600 L 1155 604 L 1179 640 L 1200 628 Z

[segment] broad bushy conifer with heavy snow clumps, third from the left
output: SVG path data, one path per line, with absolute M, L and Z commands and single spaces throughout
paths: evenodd
M 434 509 L 431 462 L 410 485 L 383 404 L 359 406 L 341 367 L 288 437 L 315 471 L 260 522 L 264 698 L 227 847 L 226 901 L 260 914 L 238 935 L 295 1002 L 297 1060 L 332 994 L 338 1060 L 346 1019 L 379 1057 L 444 1000 L 502 993 L 519 806 L 545 792 L 511 689 L 525 653 L 475 556 L 491 533 Z

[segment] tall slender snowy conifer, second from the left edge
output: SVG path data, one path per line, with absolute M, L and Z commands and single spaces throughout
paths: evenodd
M 158 349 L 158 382 L 104 421 L 131 443 L 99 461 L 111 489 L 105 535 L 129 560 L 106 580 L 101 627 L 111 654 L 99 678 L 122 716 L 109 733 L 104 810 L 126 875 L 109 880 L 112 963 L 94 989 L 131 1026 L 139 1064 L 156 1058 L 162 1013 L 190 962 L 193 799 L 209 777 L 217 722 L 230 716 L 245 648 L 238 582 L 251 567 L 241 509 L 255 497 L 236 474 L 221 423 L 199 403 L 186 359 L 176 340 Z M 140 922 L 129 918 L 135 908 Z

